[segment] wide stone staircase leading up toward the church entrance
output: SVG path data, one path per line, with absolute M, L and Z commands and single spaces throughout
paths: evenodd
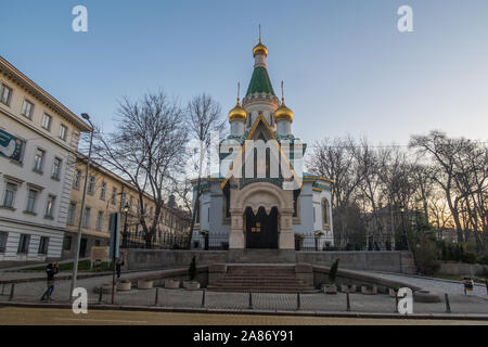
M 296 279 L 295 265 L 228 265 L 224 279 L 208 285 L 218 292 L 317 293 Z

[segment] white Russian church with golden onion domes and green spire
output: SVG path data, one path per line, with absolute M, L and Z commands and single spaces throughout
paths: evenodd
M 205 240 L 208 247 L 210 240 L 210 248 L 291 250 L 300 235 L 316 235 L 320 249 L 332 246 L 332 181 L 301 171 L 307 145 L 292 132 L 294 114 L 285 105 L 283 83 L 281 102 L 274 93 L 260 35 L 253 55 L 247 92 L 242 103 L 237 92 L 230 134 L 219 144 L 223 169 L 201 179 L 196 206 L 193 201 L 193 247 L 204 247 Z

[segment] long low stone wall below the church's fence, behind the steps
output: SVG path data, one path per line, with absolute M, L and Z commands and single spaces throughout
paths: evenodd
M 272 249 L 275 250 L 275 249 Z M 415 273 L 413 256 L 409 252 L 295 252 L 282 255 L 280 252 L 261 250 L 258 254 L 271 262 L 307 262 L 331 266 L 339 258 L 341 269 L 373 270 L 398 273 Z M 172 249 L 128 249 L 127 269 L 175 269 L 187 268 L 195 257 L 197 266 L 227 262 L 260 262 L 257 254 L 235 255 L 227 250 L 172 250 Z M 270 262 L 268 261 L 268 262 Z

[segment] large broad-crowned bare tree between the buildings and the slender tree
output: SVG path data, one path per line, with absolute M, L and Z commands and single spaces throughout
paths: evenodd
M 164 207 L 164 191 L 183 166 L 188 140 L 184 112 L 164 92 L 147 93 L 138 102 L 124 98 L 115 121 L 113 133 L 97 136 L 93 152 L 100 163 L 136 187 L 138 218 L 145 245 L 151 247 Z M 145 213 L 146 193 L 154 201 L 153 216 Z

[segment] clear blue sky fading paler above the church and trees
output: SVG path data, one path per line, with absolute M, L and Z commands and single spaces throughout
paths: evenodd
M 275 92 L 308 143 L 350 133 L 407 143 L 436 128 L 487 140 L 488 1 L 0 0 L 0 54 L 73 112 L 112 129 L 117 99 L 163 88 L 184 104 L 235 103 L 253 72 L 257 25 Z M 72 30 L 73 7 L 89 31 Z M 414 33 L 397 29 L 413 8 Z

